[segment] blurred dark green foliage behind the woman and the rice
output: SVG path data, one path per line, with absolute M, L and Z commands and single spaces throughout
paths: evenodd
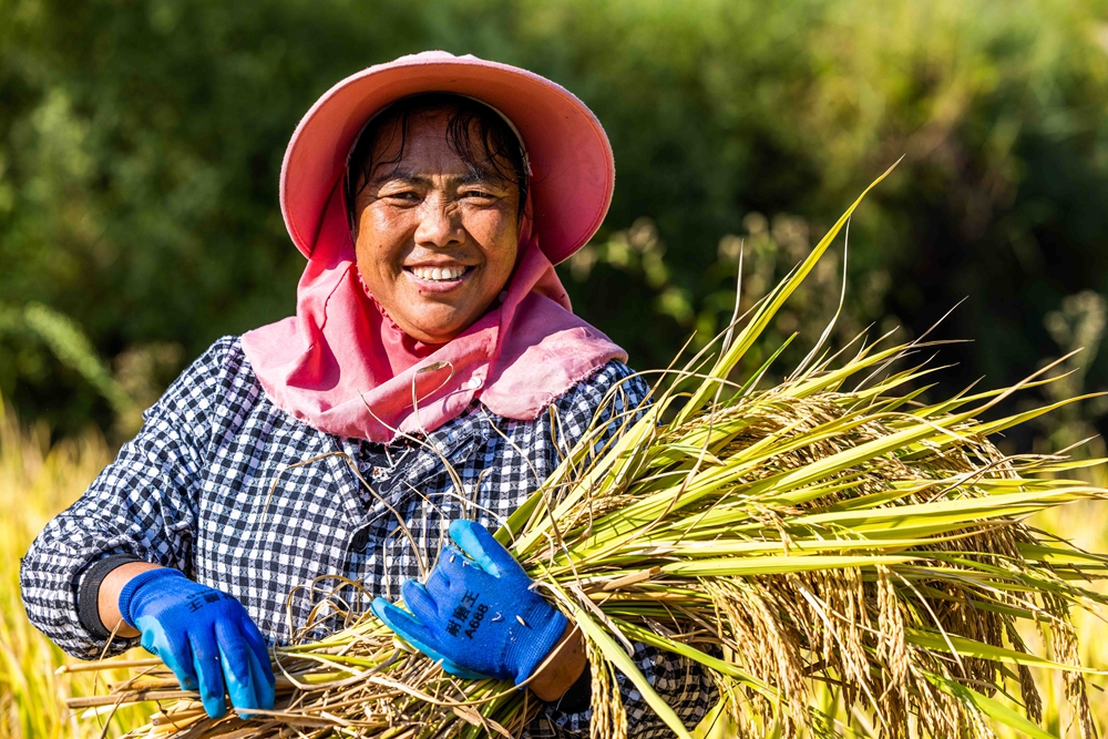
M 841 338 L 919 335 L 966 298 L 936 333 L 976 340 L 944 350 L 955 379 L 1085 343 L 1074 381 L 1108 386 L 1104 1 L 0 0 L 0 393 L 61 433 L 133 430 L 213 339 L 293 310 L 288 136 L 340 78 L 424 49 L 534 70 L 605 124 L 615 202 L 562 269 L 635 367 L 726 320 L 739 244 L 757 295 L 904 155 L 851 225 Z M 841 268 L 778 336 L 811 343 Z

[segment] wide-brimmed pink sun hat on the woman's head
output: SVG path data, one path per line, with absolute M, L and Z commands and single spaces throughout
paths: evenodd
M 424 51 L 351 74 L 316 101 L 296 127 L 280 173 L 285 226 L 305 256 L 341 181 L 353 140 L 380 109 L 421 92 L 488 103 L 523 137 L 540 247 L 553 264 L 579 249 L 604 220 L 615 162 L 604 127 L 565 88 L 534 72 L 472 54 Z

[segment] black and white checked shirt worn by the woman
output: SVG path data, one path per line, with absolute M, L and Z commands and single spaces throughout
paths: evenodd
M 274 643 L 302 627 L 320 593 L 330 589 L 324 585 L 311 594 L 301 587 L 289 605 L 289 593 L 316 577 L 341 574 L 361 583 L 369 598 L 394 599 L 401 582 L 433 565 L 451 520 L 468 517 L 494 530 L 526 500 L 609 391 L 614 402 L 605 404 L 602 419 L 635 408 L 647 386 L 630 374 L 622 362 L 609 362 L 554 401 L 556 422 L 550 413 L 530 422 L 505 419 L 474 402 L 428 435 L 435 452 L 308 427 L 266 398 L 239 340 L 220 339 L 146 411 L 138 435 L 31 545 L 21 565 L 28 616 L 69 654 L 98 658 L 104 644 L 81 625 L 78 594 L 89 566 L 112 554 L 176 567 L 234 595 Z M 461 490 L 439 454 L 455 470 Z M 368 608 L 368 601 L 356 607 Z M 136 644 L 124 640 L 112 651 Z M 687 723 L 704 716 L 715 689 L 701 670 L 645 645 L 637 646 L 635 659 Z M 624 700 L 633 736 L 668 736 L 629 682 Z M 552 707 L 532 733 L 584 737 L 588 717 Z

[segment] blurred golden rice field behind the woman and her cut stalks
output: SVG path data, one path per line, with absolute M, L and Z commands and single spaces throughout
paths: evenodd
M 69 660 L 28 624 L 19 596 L 19 558 L 41 526 L 81 494 L 85 485 L 111 459 L 102 438 L 50 444 L 44 428 L 22 427 L 11 413 L 0 409 L 0 739 L 119 737 L 126 727 L 145 722 L 146 708 L 125 708 L 107 726 L 96 717 L 79 718 L 63 707 L 65 697 L 103 692 L 94 674 L 57 676 L 54 670 Z M 1101 475 L 1102 476 L 1102 475 Z M 1100 484 L 1105 481 L 1098 480 Z M 1035 523 L 1092 551 L 1108 550 L 1108 504 L 1078 504 L 1040 514 Z M 1108 668 L 1108 640 L 1104 625 L 1078 615 L 1083 663 Z M 1035 639 L 1035 634 L 1027 634 Z M 144 654 L 144 653 L 143 653 Z M 141 655 L 133 655 L 141 656 Z M 99 679 L 121 679 L 123 674 L 100 674 Z M 1065 714 L 1064 686 L 1059 675 L 1042 676 L 1045 728 L 1059 737 L 1077 736 Z M 1101 730 L 1108 727 L 1108 700 L 1102 689 L 1108 680 L 1091 677 L 1092 707 Z M 815 694 L 827 709 L 833 696 Z M 845 718 L 845 717 L 844 717 Z M 879 736 L 866 716 L 850 722 L 860 736 Z M 1003 737 L 1015 736 L 998 729 Z M 730 732 L 722 722 L 704 727 L 698 736 L 719 738 Z

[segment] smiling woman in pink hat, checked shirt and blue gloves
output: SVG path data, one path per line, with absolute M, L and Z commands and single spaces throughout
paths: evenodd
M 428 52 L 328 91 L 281 170 L 308 258 L 296 316 L 217 341 L 45 527 L 21 573 L 31 620 L 78 657 L 113 630 L 112 651 L 141 640 L 208 714 L 225 692 L 248 712 L 274 702 L 267 644 L 319 614 L 316 591 L 289 594 L 341 575 L 449 671 L 548 701 L 533 736 L 587 733 L 579 634 L 488 530 L 594 414 L 614 425 L 645 399 L 553 268 L 613 183 L 588 109 L 524 70 Z M 459 628 L 480 608 L 501 617 Z M 699 720 L 700 671 L 635 658 Z M 624 700 L 635 736 L 667 733 L 629 685 Z

